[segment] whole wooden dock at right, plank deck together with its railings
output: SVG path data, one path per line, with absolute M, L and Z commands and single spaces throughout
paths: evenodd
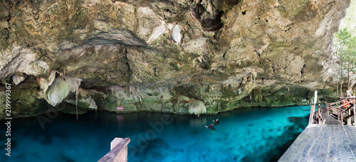
M 335 103 L 318 111 L 311 107 L 309 125 L 279 161 L 356 161 L 356 126 L 351 126 L 355 107 L 352 111 L 352 107 L 343 109 L 342 102 Z M 344 125 L 346 119 L 348 125 Z

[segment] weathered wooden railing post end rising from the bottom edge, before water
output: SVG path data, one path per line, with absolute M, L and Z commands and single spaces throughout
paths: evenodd
M 127 144 L 130 143 L 130 138 L 115 138 L 111 141 L 111 151 L 106 153 L 98 162 L 127 162 Z

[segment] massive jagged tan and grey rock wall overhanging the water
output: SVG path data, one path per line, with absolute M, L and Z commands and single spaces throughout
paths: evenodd
M 90 109 L 214 114 L 237 107 L 306 104 L 312 90 L 319 90 L 323 99 L 333 95 L 333 77 L 320 76 L 328 72 L 333 33 L 349 4 L 4 1 L 0 78 L 2 84 L 19 84 L 14 92 L 28 92 L 11 98 L 26 107 L 41 107 L 41 92 L 58 78 L 65 85 L 69 82 L 63 78 L 81 80 L 78 106 Z M 53 70 L 59 72 L 56 78 L 50 77 Z M 177 102 L 182 95 L 197 102 Z M 63 97 L 73 104 L 75 94 Z M 15 114 L 25 111 L 14 107 Z

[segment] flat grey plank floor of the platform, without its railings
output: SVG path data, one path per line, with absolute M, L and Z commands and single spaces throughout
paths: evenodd
M 309 125 L 279 161 L 356 161 L 356 126 Z

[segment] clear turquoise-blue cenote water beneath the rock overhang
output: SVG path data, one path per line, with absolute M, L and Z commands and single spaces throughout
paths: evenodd
M 79 121 L 58 114 L 44 129 L 36 117 L 13 119 L 11 157 L 0 127 L 0 161 L 98 161 L 115 137 L 131 138 L 129 161 L 277 161 L 308 125 L 309 110 L 250 108 L 200 117 L 88 112 Z M 217 118 L 215 131 L 205 128 Z

